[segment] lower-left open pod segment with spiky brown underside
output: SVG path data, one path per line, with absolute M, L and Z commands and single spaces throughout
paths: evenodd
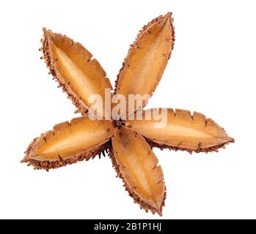
M 89 159 L 106 150 L 113 132 L 111 121 L 73 118 L 34 140 L 23 162 L 37 169 L 51 169 Z

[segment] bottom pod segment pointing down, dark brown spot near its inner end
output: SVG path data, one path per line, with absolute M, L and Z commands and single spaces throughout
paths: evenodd
M 115 132 L 112 144 L 112 161 L 129 194 L 146 211 L 161 215 L 164 174 L 150 146 L 141 135 L 125 127 Z

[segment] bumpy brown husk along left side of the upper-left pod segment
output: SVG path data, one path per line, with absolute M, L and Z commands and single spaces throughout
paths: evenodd
M 45 63 L 48 69 L 50 70 L 51 75 L 53 75 L 54 79 L 58 81 L 59 87 L 62 87 L 62 91 L 64 91 L 67 94 L 67 98 L 69 98 L 73 102 L 73 105 L 77 107 L 78 112 L 80 112 L 82 115 L 85 115 L 88 112 L 87 107 L 85 107 L 81 99 L 79 99 L 78 97 L 76 97 L 75 94 L 73 94 L 73 91 L 71 91 L 69 84 L 63 82 L 62 79 L 59 78 L 59 75 L 55 67 L 55 61 L 53 61 L 51 56 L 50 45 L 48 42 L 49 39 L 51 38 L 46 37 L 44 35 L 43 39 L 41 40 L 43 44 L 43 58 L 45 59 Z M 70 39 L 70 45 L 73 44 L 73 39 Z

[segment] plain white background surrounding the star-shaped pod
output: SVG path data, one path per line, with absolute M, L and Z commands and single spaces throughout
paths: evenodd
M 81 42 L 111 82 L 141 27 L 166 12 L 175 49 L 148 107 L 197 110 L 235 143 L 218 154 L 155 149 L 164 216 L 256 218 L 254 1 L 1 1 L 0 218 L 158 219 L 133 203 L 108 157 L 49 173 L 20 164 L 30 141 L 78 116 L 40 61 L 43 26 Z

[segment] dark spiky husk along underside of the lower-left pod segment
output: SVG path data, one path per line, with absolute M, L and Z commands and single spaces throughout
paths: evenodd
M 34 144 L 37 142 L 37 138 L 34 138 L 32 143 L 29 144 L 29 147 L 25 151 L 25 158 L 21 162 L 28 162 L 28 166 L 32 165 L 34 169 L 44 169 L 44 170 L 49 170 L 49 169 L 56 169 L 59 167 L 64 167 L 66 165 L 71 165 L 76 162 L 80 162 L 83 160 L 88 161 L 89 159 L 94 159 L 95 156 L 106 156 L 106 153 L 109 151 L 109 148 L 111 147 L 111 140 L 107 141 L 106 143 L 103 143 L 103 145 L 96 146 L 95 148 L 92 148 L 89 151 L 83 152 L 81 154 L 77 154 L 74 156 L 71 156 L 68 159 L 62 159 L 61 156 L 59 156 L 59 160 L 54 160 L 54 161 L 47 161 L 47 160 L 36 160 L 36 159 L 29 159 L 29 154 L 32 148 L 34 147 Z

